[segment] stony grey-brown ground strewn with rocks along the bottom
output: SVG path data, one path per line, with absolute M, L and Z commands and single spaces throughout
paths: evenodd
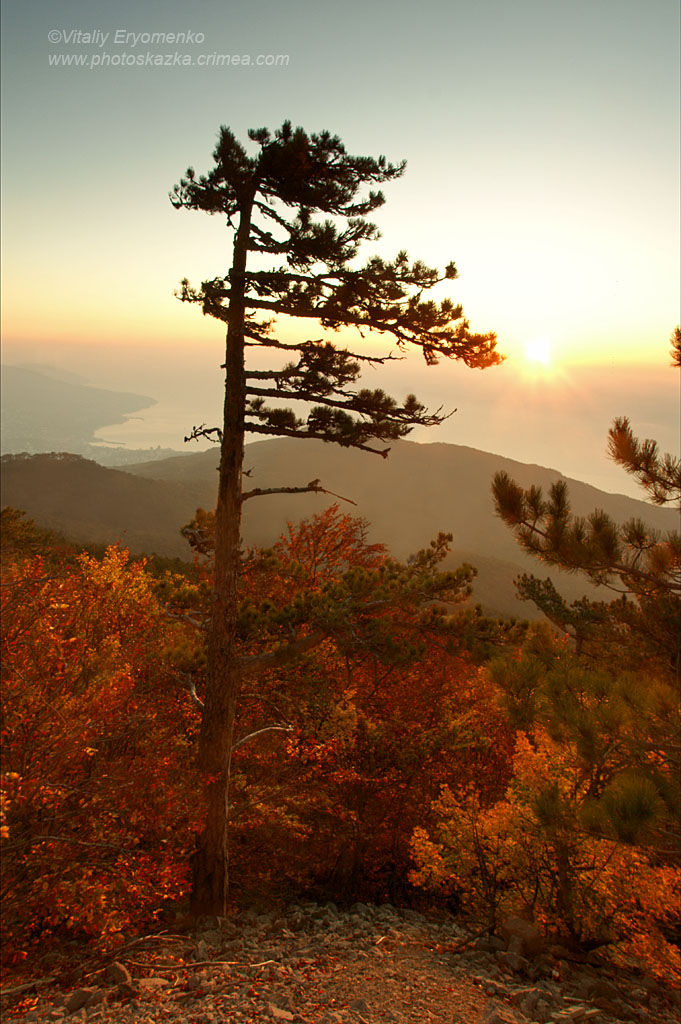
M 159 934 L 84 971 L 78 987 L 14 993 L 3 1021 L 97 1024 L 678 1024 L 679 993 L 642 972 L 577 962 L 511 919 L 504 939 L 390 905 L 248 911 Z M 36 1001 L 37 1000 L 37 1001 Z

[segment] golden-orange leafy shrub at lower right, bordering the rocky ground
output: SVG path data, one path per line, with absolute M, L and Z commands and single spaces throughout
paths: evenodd
M 678 924 L 681 869 L 589 830 L 586 800 L 573 746 L 542 729 L 531 741 L 518 733 L 503 800 L 484 806 L 474 791 L 442 791 L 436 826 L 415 831 L 413 879 L 454 888 L 493 928 L 520 911 L 563 940 L 607 945 L 679 981 L 679 949 L 663 932 Z

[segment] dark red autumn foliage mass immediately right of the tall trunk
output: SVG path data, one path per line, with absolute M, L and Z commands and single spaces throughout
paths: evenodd
M 191 532 L 210 573 L 210 517 Z M 426 560 L 444 550 L 433 545 Z M 465 594 L 469 571 L 454 577 L 450 592 Z M 440 786 L 474 776 L 485 792 L 503 786 L 511 732 L 492 685 L 417 583 L 337 506 L 246 557 L 242 649 L 269 649 L 302 620 L 327 638 L 245 683 L 231 783 L 238 897 L 403 899 L 412 830 Z

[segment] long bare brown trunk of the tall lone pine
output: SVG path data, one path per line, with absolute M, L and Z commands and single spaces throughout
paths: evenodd
M 252 200 L 242 210 L 229 274 L 224 417 L 215 515 L 215 581 L 208 638 L 206 694 L 199 738 L 205 827 L 193 858 L 191 913 L 224 915 L 228 891 L 227 826 L 235 716 L 240 690 L 237 655 L 244 463 L 245 271 Z

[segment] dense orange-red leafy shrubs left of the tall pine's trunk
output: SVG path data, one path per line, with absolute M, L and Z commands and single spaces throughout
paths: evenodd
M 163 659 L 142 562 L 110 548 L 2 587 L 6 966 L 50 941 L 114 945 L 186 888 L 196 713 Z

